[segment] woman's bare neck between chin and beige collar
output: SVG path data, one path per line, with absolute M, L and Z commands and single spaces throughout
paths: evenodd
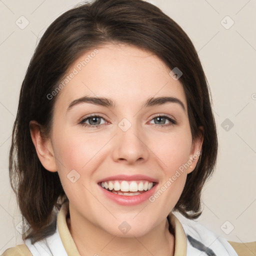
M 175 238 L 167 219 L 139 237 L 114 236 L 72 211 L 67 226 L 81 256 L 174 255 Z

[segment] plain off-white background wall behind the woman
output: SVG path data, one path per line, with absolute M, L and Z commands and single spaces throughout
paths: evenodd
M 0 0 L 0 253 L 22 243 L 20 213 L 8 179 L 20 86 L 38 38 L 78 2 Z M 191 38 L 211 88 L 219 154 L 215 174 L 203 189 L 198 221 L 227 240 L 255 241 L 256 1 L 150 2 Z

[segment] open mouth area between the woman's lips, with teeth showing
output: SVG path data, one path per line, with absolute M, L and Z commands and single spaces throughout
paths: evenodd
M 119 195 L 139 195 L 150 190 L 155 182 L 148 180 L 108 180 L 98 183 L 103 189 Z

